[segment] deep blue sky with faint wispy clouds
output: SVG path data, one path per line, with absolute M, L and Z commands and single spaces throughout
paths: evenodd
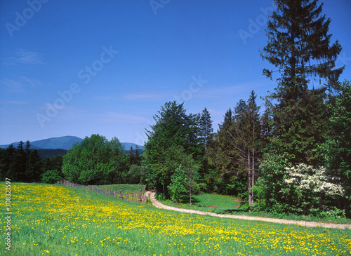
M 320 1 L 321 2 L 321 1 Z M 269 0 L 1 0 L 0 144 L 93 133 L 143 144 L 170 100 L 213 128 L 274 81 L 260 58 Z M 351 1 L 324 1 L 351 79 Z M 318 86 L 315 82 L 314 86 Z M 262 101 L 258 101 L 262 104 Z

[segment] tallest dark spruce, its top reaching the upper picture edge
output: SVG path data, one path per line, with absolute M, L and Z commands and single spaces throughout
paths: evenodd
M 277 10 L 267 22 L 268 42 L 261 52 L 280 74 L 270 95 L 274 102 L 270 146 L 278 154 L 288 153 L 293 164 L 317 165 L 322 159 L 319 145 L 326 135 L 326 89 L 336 86 L 343 72 L 344 67 L 335 68 L 342 48 L 338 41 L 331 43 L 331 20 L 322 15 L 323 4 L 317 0 L 274 3 Z M 263 70 L 271 79 L 273 72 Z

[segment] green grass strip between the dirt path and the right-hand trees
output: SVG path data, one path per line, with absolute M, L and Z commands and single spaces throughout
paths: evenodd
M 204 212 L 220 213 L 220 214 L 232 214 L 232 215 L 248 215 L 257 217 L 270 217 L 285 220 L 304 220 L 313 222 L 326 222 L 336 224 L 351 224 L 350 219 L 340 218 L 319 218 L 312 216 L 301 216 L 301 215 L 284 215 L 284 214 L 272 214 L 265 212 L 253 212 L 249 213 L 239 207 L 240 202 L 238 198 L 233 196 L 222 196 L 217 194 L 199 194 L 194 195 L 192 200 L 192 206 L 189 203 L 173 203 L 170 200 L 161 200 L 166 206 L 173 206 L 177 208 L 201 210 Z

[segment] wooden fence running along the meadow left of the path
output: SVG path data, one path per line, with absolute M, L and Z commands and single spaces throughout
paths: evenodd
M 103 194 L 106 196 L 114 196 L 116 198 L 130 201 L 130 202 L 147 203 L 147 197 L 145 196 L 145 194 L 143 194 L 143 191 L 141 189 L 139 193 L 123 194 L 121 191 L 117 192 L 115 190 L 104 189 L 102 187 L 98 187 L 94 185 L 91 185 L 91 186 L 81 185 L 81 184 L 69 182 L 68 180 L 61 180 L 60 182 L 56 182 L 55 184 L 65 185 L 67 187 L 79 187 L 81 189 L 88 189 L 95 193 Z

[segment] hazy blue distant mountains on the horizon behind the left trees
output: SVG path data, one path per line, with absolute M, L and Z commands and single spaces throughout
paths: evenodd
M 30 142 L 31 149 L 70 149 L 72 145 L 76 142 L 80 143 L 83 139 L 75 136 L 63 136 L 63 137 L 51 137 L 46 140 L 36 140 Z M 24 147 L 25 147 L 25 141 Z M 13 147 L 17 147 L 20 142 L 13 142 Z M 144 147 L 137 145 L 135 143 L 124 142 L 121 143 L 124 146 L 124 150 L 129 151 L 131 147 L 135 149 L 138 146 L 139 149 L 145 149 Z M 0 145 L 0 148 L 6 149 L 10 144 Z

